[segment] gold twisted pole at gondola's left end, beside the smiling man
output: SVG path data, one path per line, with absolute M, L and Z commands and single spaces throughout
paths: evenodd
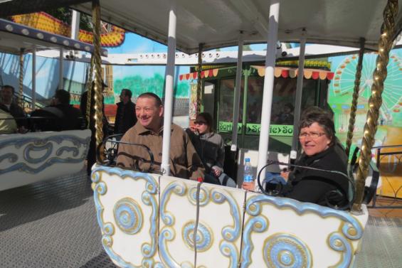
M 102 66 L 100 59 L 100 4 L 99 0 L 92 1 L 92 23 L 93 45 L 94 45 L 94 64 L 95 64 L 95 87 L 92 94 L 95 94 L 95 139 L 96 148 L 102 143 L 103 122 L 102 122 Z M 88 96 L 88 99 L 90 96 Z

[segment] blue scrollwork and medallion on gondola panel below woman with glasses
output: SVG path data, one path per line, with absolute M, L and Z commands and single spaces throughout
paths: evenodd
M 299 215 L 314 213 L 321 218 L 334 217 L 342 220 L 339 230 L 332 232 L 328 237 L 329 246 L 342 253 L 340 261 L 334 267 L 349 267 L 353 258 L 352 240 L 359 240 L 363 235 L 363 227 L 359 221 L 345 211 L 324 208 L 312 203 L 301 203 L 288 198 L 275 198 L 268 195 L 253 195 L 245 204 L 245 212 L 252 217 L 245 223 L 243 230 L 243 250 L 241 267 L 248 267 L 251 263 L 250 255 L 253 251 L 251 232 L 265 232 L 268 228 L 268 219 L 261 215 L 262 204 L 268 203 L 277 208 L 291 208 Z M 276 244 L 278 246 L 276 246 Z M 293 235 L 277 235 L 265 240 L 264 259 L 268 266 L 275 267 L 311 267 L 312 257 L 309 248 L 299 238 Z M 281 245 L 279 247 L 279 245 Z M 285 246 L 286 245 L 286 246 Z M 286 249 L 280 251 L 278 249 Z M 275 256 L 276 261 L 273 261 Z M 292 265 L 290 265 L 292 264 Z M 299 266 L 299 264 L 303 264 Z M 277 265 L 277 266 L 276 266 Z M 309 266 L 310 265 L 310 266 Z

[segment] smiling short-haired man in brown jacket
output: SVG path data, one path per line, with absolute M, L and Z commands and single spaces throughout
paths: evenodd
M 135 107 L 137 124 L 122 137 L 117 153 L 117 166 L 159 172 L 162 162 L 163 114 L 162 100 L 154 93 L 144 93 L 137 98 Z M 171 124 L 170 167 L 171 176 L 179 178 L 203 178 L 204 168 L 196 154 L 189 136 L 181 127 Z M 154 155 L 154 166 L 150 166 L 147 149 L 131 144 L 143 144 Z

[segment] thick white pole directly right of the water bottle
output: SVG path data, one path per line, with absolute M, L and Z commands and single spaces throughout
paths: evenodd
M 270 137 L 271 107 L 273 104 L 273 87 L 275 71 L 275 54 L 277 41 L 277 26 L 280 0 L 271 0 L 270 17 L 268 22 L 267 56 L 265 58 L 265 77 L 263 91 L 263 110 L 261 112 L 260 144 L 258 146 L 258 172 L 267 164 L 268 139 Z M 265 169 L 261 172 L 265 178 Z

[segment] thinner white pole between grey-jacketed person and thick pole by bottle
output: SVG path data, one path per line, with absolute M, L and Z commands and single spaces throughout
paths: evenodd
M 238 37 L 238 65 L 236 69 L 236 90 L 233 102 L 233 127 L 232 127 L 232 146 L 231 151 L 236 151 L 238 141 L 238 113 L 240 105 L 241 73 L 243 71 L 243 33 Z M 247 92 L 245 92 L 247 94 Z M 244 108 L 243 108 L 244 109 Z M 243 122 L 245 124 L 245 122 Z

